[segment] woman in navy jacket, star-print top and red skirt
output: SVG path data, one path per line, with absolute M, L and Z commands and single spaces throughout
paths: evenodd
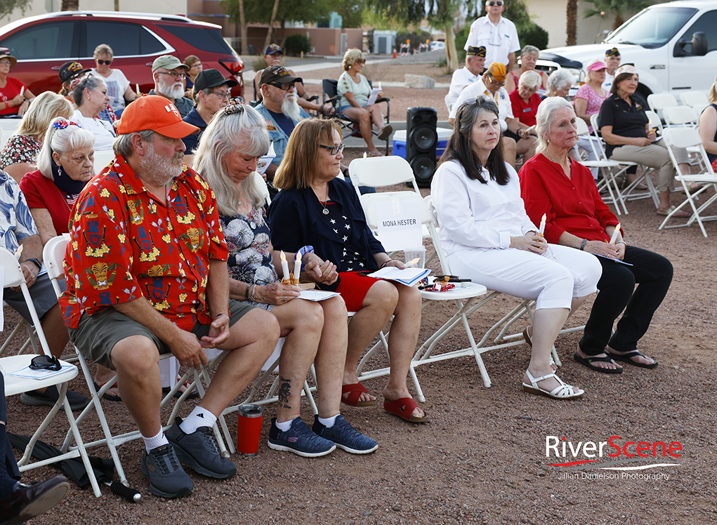
M 359 198 L 341 175 L 343 144 L 336 120 L 303 120 L 289 138 L 274 179 L 282 191 L 269 208 L 272 244 L 277 250 L 312 246 L 336 264 L 338 279 L 321 289 L 339 292 L 349 312 L 348 351 L 343 368 L 343 403 L 376 404 L 356 376 L 359 357 L 394 316 L 389 333 L 391 376 L 384 388 L 384 409 L 407 421 L 423 423 L 427 415 L 409 393 L 406 376 L 421 328 L 421 294 L 417 288 L 373 279 L 365 271 L 393 261 L 371 233 Z

